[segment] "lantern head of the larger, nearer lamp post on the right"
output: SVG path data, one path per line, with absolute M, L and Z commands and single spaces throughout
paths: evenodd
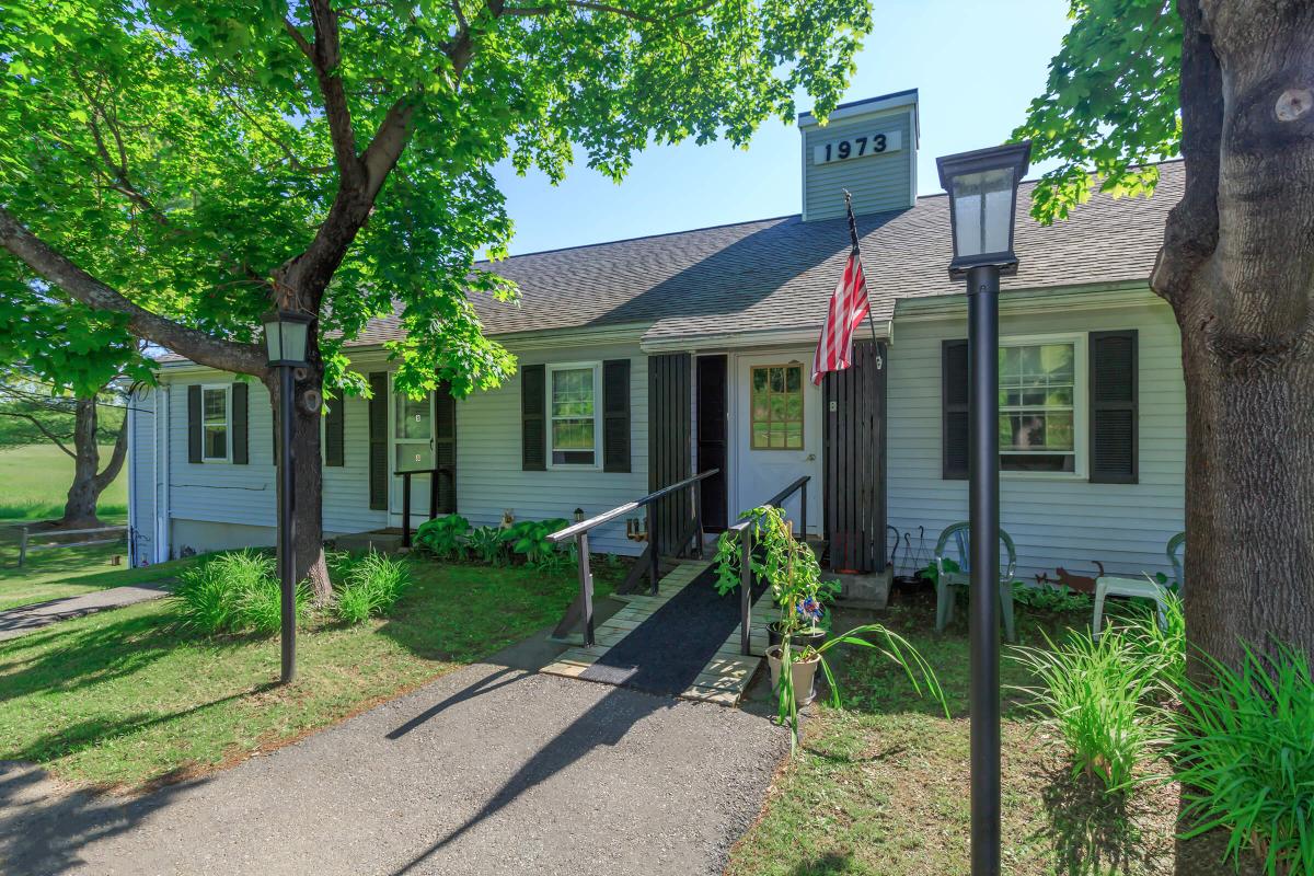
M 1028 141 L 936 159 L 940 184 L 949 192 L 954 232 L 950 276 L 983 265 L 997 265 L 1003 273 L 1017 271 L 1013 252 L 1017 184 L 1026 175 L 1030 158 Z

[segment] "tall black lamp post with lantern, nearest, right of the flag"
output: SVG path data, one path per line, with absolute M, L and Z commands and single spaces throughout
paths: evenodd
M 967 277 L 972 876 L 1000 867 L 999 278 L 1017 272 L 1013 214 L 1030 155 L 1017 143 L 936 160 L 954 231 L 949 274 Z

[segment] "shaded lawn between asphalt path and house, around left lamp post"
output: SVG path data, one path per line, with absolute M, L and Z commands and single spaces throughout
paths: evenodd
M 569 573 L 411 565 L 389 617 L 311 620 L 286 688 L 271 687 L 276 636 L 200 637 L 171 599 L 0 642 L 0 759 L 118 789 L 202 774 L 519 641 L 558 620 L 577 588 Z

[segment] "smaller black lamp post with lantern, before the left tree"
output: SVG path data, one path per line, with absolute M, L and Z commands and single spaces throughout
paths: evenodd
M 296 420 L 296 370 L 306 366 L 306 338 L 311 317 L 277 310 L 265 314 L 264 345 L 269 353 L 269 368 L 279 369 L 279 580 L 283 584 L 283 675 L 281 683 L 292 682 L 297 670 L 297 506 L 296 460 L 292 440 Z

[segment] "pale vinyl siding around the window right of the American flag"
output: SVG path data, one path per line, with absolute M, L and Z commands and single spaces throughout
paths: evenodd
M 1017 542 L 1022 579 L 1042 571 L 1053 575 L 1058 566 L 1092 574 L 1095 559 L 1109 574 L 1168 571 L 1164 548 L 1184 525 L 1187 422 L 1172 311 L 1147 290 L 1143 306 L 1000 318 L 1005 339 L 1120 328 L 1138 330 L 1139 482 L 1005 474 L 1000 515 Z M 895 318 L 888 365 L 890 524 L 911 532 L 915 549 L 918 527 L 925 528 L 930 552 L 945 527 L 967 519 L 967 482 L 941 477 L 940 374 L 941 341 L 966 336 L 966 317 Z

